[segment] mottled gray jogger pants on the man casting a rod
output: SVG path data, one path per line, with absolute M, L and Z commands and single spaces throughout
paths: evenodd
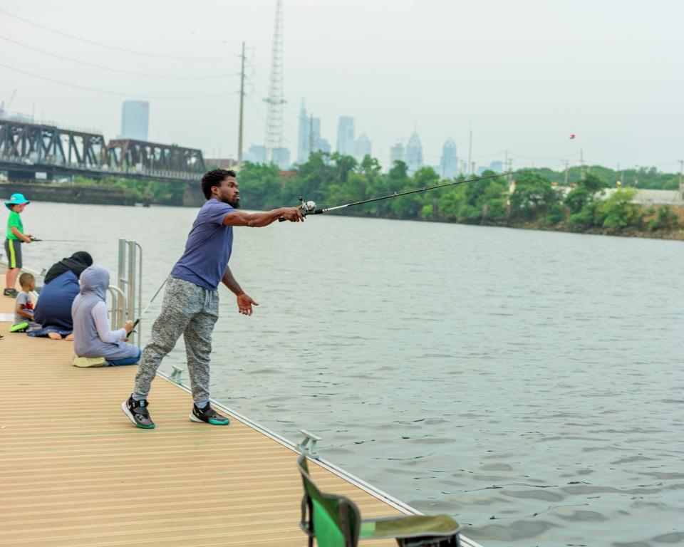
M 135 376 L 135 393 L 147 397 L 162 359 L 183 335 L 192 399 L 196 402 L 209 399 L 209 355 L 212 353 L 212 331 L 218 318 L 218 291 L 207 291 L 190 281 L 170 277 L 162 311 L 152 325 L 150 343 L 142 350 Z

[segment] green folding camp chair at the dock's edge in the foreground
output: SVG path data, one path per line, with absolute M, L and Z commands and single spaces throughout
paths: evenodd
M 325 494 L 309 475 L 306 456 L 297 467 L 304 481 L 299 527 L 309 547 L 356 547 L 360 539 L 395 538 L 401 547 L 460 547 L 460 524 L 448 515 L 403 515 L 361 519 L 358 506 L 346 496 Z

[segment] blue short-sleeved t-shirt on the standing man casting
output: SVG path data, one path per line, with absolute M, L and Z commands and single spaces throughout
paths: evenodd
M 223 224 L 223 219 L 234 210 L 218 199 L 207 199 L 192 224 L 183 256 L 171 270 L 172 276 L 217 290 L 233 248 L 233 226 Z

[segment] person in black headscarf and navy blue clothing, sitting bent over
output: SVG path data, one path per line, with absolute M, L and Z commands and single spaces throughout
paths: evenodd
M 78 251 L 69 258 L 62 259 L 48 270 L 45 285 L 36 303 L 33 321 L 43 328 L 29 333 L 30 336 L 49 336 L 71 340 L 73 323 L 71 321 L 71 304 L 80 288 L 78 278 L 83 270 L 93 264 L 93 257 L 86 251 Z

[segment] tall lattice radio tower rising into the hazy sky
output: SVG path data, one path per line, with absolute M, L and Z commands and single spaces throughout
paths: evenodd
M 266 112 L 266 148 L 269 162 L 277 163 L 274 149 L 283 143 L 283 0 L 276 0 L 276 20 L 273 26 L 273 53 L 271 53 L 271 78 Z

